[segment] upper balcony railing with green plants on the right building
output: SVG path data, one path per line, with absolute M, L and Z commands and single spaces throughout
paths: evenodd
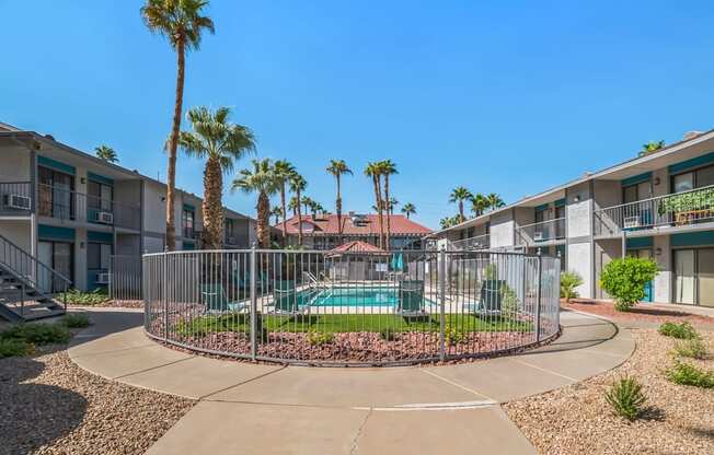
M 714 221 L 714 185 L 595 211 L 595 235 Z

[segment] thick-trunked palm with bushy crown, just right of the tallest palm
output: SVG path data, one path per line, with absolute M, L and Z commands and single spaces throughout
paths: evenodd
M 230 108 L 194 107 L 186 115 L 193 131 L 181 131 L 178 143 L 189 156 L 206 160 L 204 168 L 204 248 L 219 249 L 223 240 L 223 173 L 255 151 L 253 132 L 228 120 Z

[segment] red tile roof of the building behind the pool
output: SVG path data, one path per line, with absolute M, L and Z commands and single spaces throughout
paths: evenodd
M 361 224 L 355 224 L 352 221 L 352 218 L 348 214 L 342 215 L 342 225 L 344 235 L 379 235 L 379 217 L 377 214 L 367 214 L 364 215 L 365 222 Z M 310 223 L 314 226 L 313 232 L 306 232 L 303 229 L 302 233 L 304 235 L 336 235 L 338 234 L 338 220 L 336 214 L 325 214 L 318 215 L 316 218 L 312 217 L 302 217 L 303 223 Z M 283 232 L 283 223 L 275 225 L 277 230 Z M 392 235 L 413 235 L 413 236 L 423 236 L 431 233 L 431 230 L 416 223 L 412 220 L 408 220 L 403 214 L 392 214 L 390 219 L 390 228 Z M 384 217 L 384 229 L 387 229 L 387 217 Z M 298 233 L 298 217 L 291 217 L 287 220 L 287 232 L 288 234 Z

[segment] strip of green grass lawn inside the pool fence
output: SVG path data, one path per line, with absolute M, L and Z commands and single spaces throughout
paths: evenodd
M 530 323 L 470 314 L 447 314 L 447 325 L 460 331 L 529 331 Z M 439 331 L 437 315 L 404 317 L 394 314 L 334 314 L 334 315 L 263 315 L 262 326 L 268 331 L 321 332 L 347 331 Z M 199 316 L 180 322 L 176 330 L 183 336 L 216 331 L 250 332 L 250 317 L 245 314 Z

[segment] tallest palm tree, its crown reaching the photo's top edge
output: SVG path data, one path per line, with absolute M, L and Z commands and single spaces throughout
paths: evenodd
M 166 149 L 169 164 L 166 170 L 166 248 L 175 247 L 174 192 L 176 187 L 176 148 L 181 130 L 183 110 L 184 73 L 186 50 L 198 50 L 204 31 L 215 33 L 214 21 L 201 15 L 206 0 L 147 0 L 141 7 L 143 23 L 152 33 L 163 35 L 176 52 L 176 96 L 173 107 L 173 122 Z

